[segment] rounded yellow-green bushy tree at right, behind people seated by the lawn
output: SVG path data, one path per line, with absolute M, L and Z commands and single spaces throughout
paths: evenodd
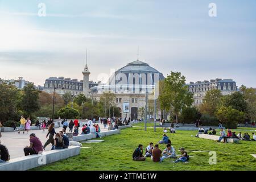
M 232 106 L 221 106 L 220 109 L 216 111 L 216 117 L 224 123 L 225 127 L 236 129 L 237 123 L 245 119 L 245 113 L 233 109 Z

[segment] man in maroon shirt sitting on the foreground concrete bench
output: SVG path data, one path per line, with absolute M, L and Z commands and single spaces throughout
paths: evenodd
M 43 144 L 34 133 L 30 134 L 30 146 L 26 146 L 24 149 L 25 156 L 38 154 L 43 151 Z

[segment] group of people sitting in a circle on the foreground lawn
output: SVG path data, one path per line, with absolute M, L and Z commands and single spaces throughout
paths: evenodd
M 146 147 L 145 155 L 143 156 L 143 145 L 139 144 L 138 148 L 133 152 L 133 160 L 144 161 L 147 157 L 150 157 L 153 162 L 163 162 L 164 159 L 172 158 L 176 159 L 174 162 L 187 162 L 189 156 L 185 151 L 185 148 L 180 148 L 181 156 L 177 158 L 175 148 L 171 145 L 171 140 L 167 143 L 166 148 L 162 151 L 159 148 L 159 144 L 150 142 Z

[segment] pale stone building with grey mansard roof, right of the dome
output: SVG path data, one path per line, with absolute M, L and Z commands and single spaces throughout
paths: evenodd
M 215 80 L 205 80 L 205 81 L 197 81 L 190 82 L 188 85 L 188 89 L 193 93 L 193 97 L 195 99 L 194 105 L 200 105 L 203 103 L 203 99 L 205 94 L 209 90 L 218 89 L 221 90 L 222 95 L 232 94 L 237 91 L 236 82 L 232 79 L 215 79 Z

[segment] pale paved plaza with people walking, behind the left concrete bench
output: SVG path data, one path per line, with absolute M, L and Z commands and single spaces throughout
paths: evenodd
M 101 128 L 101 131 L 108 130 L 108 129 L 104 129 L 104 126 L 101 123 L 99 123 L 99 125 Z M 59 132 L 60 130 L 62 130 L 62 127 L 55 129 L 56 133 Z M 82 130 L 82 127 L 79 128 L 79 134 L 81 134 L 82 132 L 81 130 Z M 67 129 L 66 131 L 68 132 L 69 129 Z M 29 133 L 30 134 L 35 133 L 36 137 L 40 138 L 42 144 L 44 144 L 48 139 L 46 138 L 48 130 L 45 130 L 44 132 L 43 130 L 31 130 Z M 25 134 L 23 134 L 22 131 L 20 132 L 20 134 L 18 134 L 17 131 L 2 132 L 1 143 L 6 145 L 6 147 L 9 150 L 11 159 L 14 159 L 14 158 L 24 156 L 23 148 L 30 145 L 29 139 L 30 139 L 30 135 L 27 134 L 27 131 L 25 131 Z M 51 150 L 51 147 L 52 147 L 52 144 L 49 144 L 46 147 L 45 151 Z

